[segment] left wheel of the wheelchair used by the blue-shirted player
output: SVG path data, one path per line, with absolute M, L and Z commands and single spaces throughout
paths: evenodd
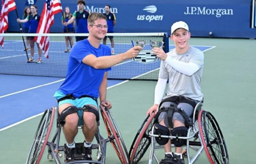
M 37 131 L 35 132 L 26 164 L 39 164 L 50 136 L 50 131 L 52 129 L 54 120 L 54 113 L 54 107 L 52 107 L 52 109 L 45 110 L 37 127 Z

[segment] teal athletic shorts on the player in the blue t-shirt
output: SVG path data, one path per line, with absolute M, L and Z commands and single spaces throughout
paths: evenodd
M 53 95 L 53 97 L 55 97 L 57 99 L 63 98 L 64 96 L 65 96 L 65 94 L 62 93 L 61 91 L 56 91 L 55 94 Z M 62 104 L 65 104 L 65 103 L 72 104 L 72 105 L 76 106 L 77 108 L 82 108 L 84 105 L 88 105 L 88 104 L 94 105 L 98 108 L 97 102 L 93 98 L 90 98 L 90 97 L 83 97 L 80 99 L 79 98 L 65 99 L 63 101 L 60 101 L 58 103 L 58 106 L 61 106 Z M 83 125 L 83 110 L 78 110 L 77 114 L 79 117 L 78 126 L 82 126 Z

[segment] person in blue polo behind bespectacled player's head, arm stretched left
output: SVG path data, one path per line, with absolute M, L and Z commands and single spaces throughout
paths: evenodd
M 64 26 L 71 24 L 76 19 L 76 33 L 89 33 L 87 28 L 87 19 L 90 15 L 90 12 L 84 9 L 84 0 L 78 0 L 77 4 L 78 11 L 73 13 L 71 19 L 69 19 L 68 22 L 65 22 Z M 76 42 L 78 42 L 79 40 L 84 40 L 86 38 L 88 38 L 88 36 L 76 36 Z

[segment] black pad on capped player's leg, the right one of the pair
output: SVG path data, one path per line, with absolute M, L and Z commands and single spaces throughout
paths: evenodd
M 183 145 L 185 145 L 187 140 L 178 139 L 178 137 L 187 137 L 187 133 L 188 133 L 188 128 L 185 126 L 173 128 L 171 134 L 172 136 L 176 136 L 176 138 L 173 138 L 173 144 L 176 147 L 182 147 Z

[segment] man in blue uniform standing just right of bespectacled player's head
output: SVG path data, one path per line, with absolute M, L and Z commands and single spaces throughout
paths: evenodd
M 116 25 L 116 16 L 113 12 L 110 12 L 110 5 L 105 6 L 105 13 L 103 15 L 107 18 L 108 23 L 108 33 L 114 33 L 114 26 Z M 107 37 L 110 40 L 111 43 L 111 54 L 114 55 L 114 39 L 113 36 L 105 36 L 103 39 L 103 44 L 106 44 Z

